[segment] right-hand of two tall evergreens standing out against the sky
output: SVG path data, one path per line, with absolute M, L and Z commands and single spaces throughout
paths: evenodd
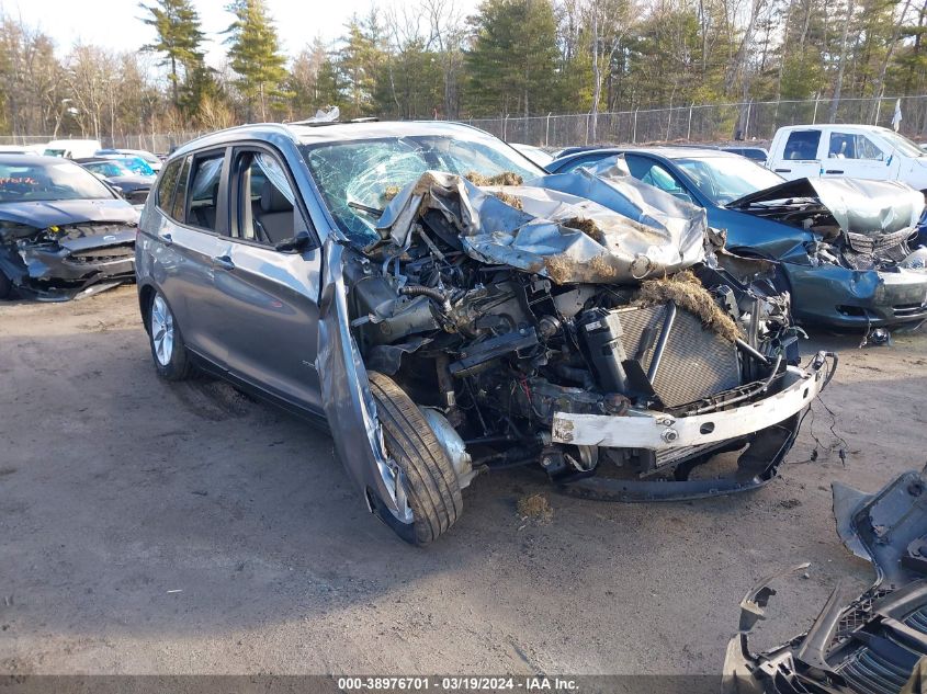
M 235 86 L 245 98 L 248 120 L 257 102 L 261 120 L 267 121 L 269 100 L 287 95 L 283 89 L 286 58 L 280 52 L 276 29 L 264 0 L 235 0 L 227 10 L 235 15 L 225 32 L 231 69 L 238 75 Z

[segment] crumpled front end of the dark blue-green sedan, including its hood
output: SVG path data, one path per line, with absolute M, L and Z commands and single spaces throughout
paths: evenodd
M 812 234 L 803 253 L 781 259 L 800 320 L 867 327 L 927 318 L 918 191 L 897 181 L 799 179 L 727 207 Z

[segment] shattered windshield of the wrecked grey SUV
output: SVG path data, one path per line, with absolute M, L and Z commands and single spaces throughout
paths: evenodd
M 305 146 L 303 153 L 325 203 L 342 231 L 359 246 L 378 238 L 380 213 L 426 171 L 523 179 L 544 171 L 488 136 L 412 136 Z

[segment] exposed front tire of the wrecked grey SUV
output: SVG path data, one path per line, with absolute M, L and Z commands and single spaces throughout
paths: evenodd
M 411 398 L 388 376 L 369 372 L 368 378 L 386 454 L 405 475 L 412 523 L 404 523 L 381 503 L 375 511 L 407 543 L 427 545 L 448 532 L 463 511 L 457 476 Z

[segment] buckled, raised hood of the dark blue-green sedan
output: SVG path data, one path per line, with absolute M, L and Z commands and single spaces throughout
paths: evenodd
M 924 213 L 924 195 L 898 181 L 862 179 L 795 179 L 750 193 L 728 209 L 795 198 L 816 198 L 847 232 L 883 235 L 908 229 Z

